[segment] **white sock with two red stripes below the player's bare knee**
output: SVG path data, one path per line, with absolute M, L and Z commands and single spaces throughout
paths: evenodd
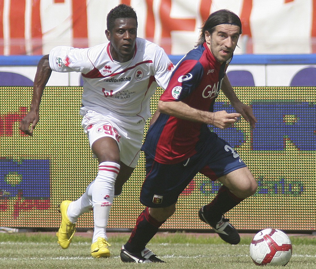
M 114 183 L 119 174 L 120 165 L 114 162 L 102 162 L 93 183 L 92 205 L 94 232 L 92 242 L 98 237 L 107 239 L 106 226 L 114 198 Z

